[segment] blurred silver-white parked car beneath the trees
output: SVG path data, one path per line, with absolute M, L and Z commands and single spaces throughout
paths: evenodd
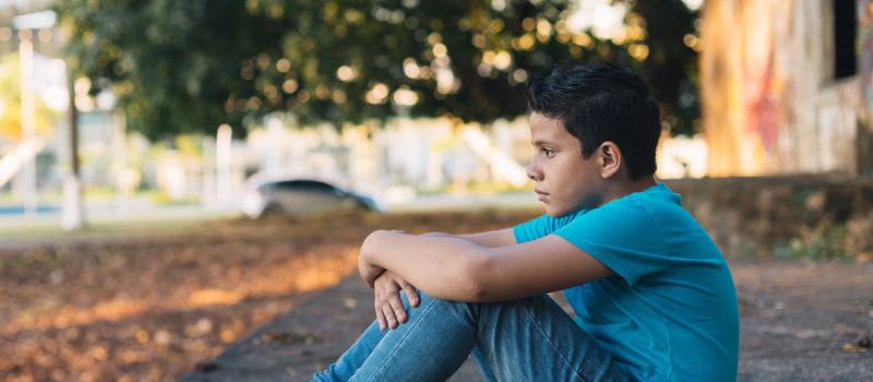
M 307 215 L 334 212 L 384 212 L 373 190 L 352 187 L 338 176 L 291 171 L 261 171 L 249 178 L 242 212 L 263 215 Z

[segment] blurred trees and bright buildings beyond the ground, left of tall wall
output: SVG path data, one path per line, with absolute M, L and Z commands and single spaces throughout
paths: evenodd
M 710 167 L 699 1 L 3 3 L 0 211 L 16 220 L 58 222 L 69 176 L 97 220 L 238 211 L 265 170 L 346 179 L 385 210 L 533 204 L 525 81 L 600 60 L 661 100 L 661 178 Z

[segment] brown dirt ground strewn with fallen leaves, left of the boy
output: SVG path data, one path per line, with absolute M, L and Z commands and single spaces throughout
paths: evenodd
M 174 381 L 337 285 L 375 229 L 471 232 L 537 215 L 236 219 L 154 235 L 7 239 L 0 381 Z

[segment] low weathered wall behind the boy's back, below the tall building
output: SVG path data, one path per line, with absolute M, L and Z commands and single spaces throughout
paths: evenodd
M 726 258 L 873 260 L 873 181 L 793 176 L 667 184 Z

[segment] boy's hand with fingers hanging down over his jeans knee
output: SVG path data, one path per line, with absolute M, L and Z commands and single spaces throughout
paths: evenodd
M 409 306 L 418 307 L 419 298 L 416 288 L 391 271 L 385 271 L 376 277 L 374 282 L 375 293 L 375 318 L 379 320 L 379 330 L 384 331 L 388 327 L 397 329 L 397 325 L 407 320 L 406 310 L 400 300 L 400 289 L 406 291 Z

